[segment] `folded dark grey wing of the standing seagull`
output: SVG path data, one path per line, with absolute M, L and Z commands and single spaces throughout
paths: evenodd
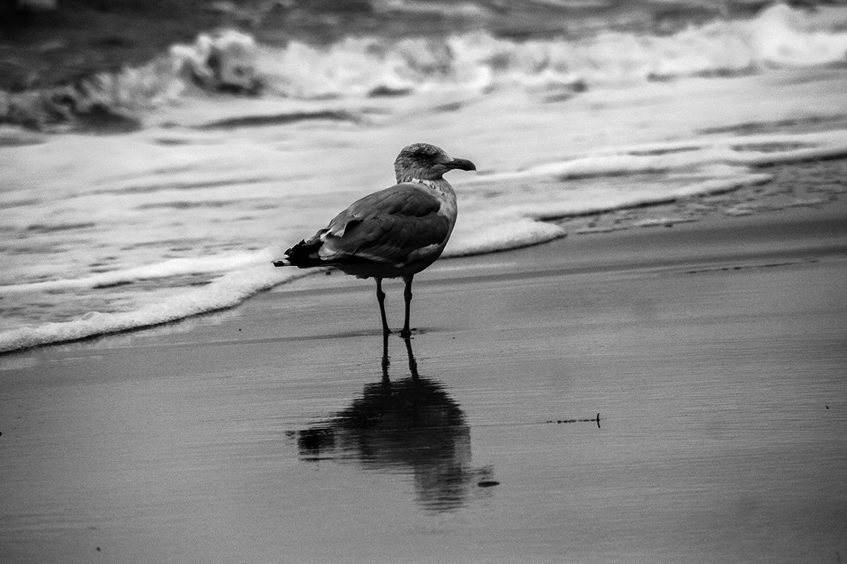
M 401 183 L 357 200 L 322 230 L 322 260 L 360 258 L 402 266 L 440 252 L 451 222 L 441 203 L 416 183 Z

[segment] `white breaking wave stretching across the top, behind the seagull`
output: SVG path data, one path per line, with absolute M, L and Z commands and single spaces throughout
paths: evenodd
M 847 8 L 820 11 L 828 17 L 776 4 L 750 19 L 715 19 L 671 35 L 600 30 L 526 41 L 475 30 L 400 39 L 346 36 L 327 46 L 280 38 L 284 46 L 275 47 L 223 30 L 174 45 L 141 67 L 50 90 L 0 93 L 0 118 L 44 127 L 75 117 L 117 131 L 140 127 L 134 112 L 185 100 L 198 86 L 313 100 L 518 85 L 556 100 L 598 86 L 844 63 Z

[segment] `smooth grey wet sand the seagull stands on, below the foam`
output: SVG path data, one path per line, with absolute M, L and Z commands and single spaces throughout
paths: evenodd
M 414 363 L 339 275 L 2 356 L 0 561 L 841 561 L 845 212 L 441 260 Z

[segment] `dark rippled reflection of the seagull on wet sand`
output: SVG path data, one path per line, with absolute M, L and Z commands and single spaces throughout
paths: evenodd
M 411 473 L 416 501 L 429 511 L 462 507 L 482 487 L 496 485 L 491 468 L 471 467 L 470 428 L 444 386 L 418 375 L 411 339 L 405 338 L 410 375 L 389 377 L 383 339 L 382 378 L 322 424 L 297 431 L 307 461 L 355 460 L 365 468 Z

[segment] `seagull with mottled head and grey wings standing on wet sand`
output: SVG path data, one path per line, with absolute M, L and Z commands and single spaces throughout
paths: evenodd
M 410 337 L 412 277 L 441 255 L 456 225 L 456 192 L 443 178 L 453 169 L 475 171 L 476 166 L 435 145 L 407 146 L 394 162 L 394 186 L 353 202 L 329 226 L 286 250 L 274 266 L 335 266 L 357 278 L 374 278 L 384 335 L 391 330 L 382 279 L 401 277 L 406 318 L 400 335 Z

